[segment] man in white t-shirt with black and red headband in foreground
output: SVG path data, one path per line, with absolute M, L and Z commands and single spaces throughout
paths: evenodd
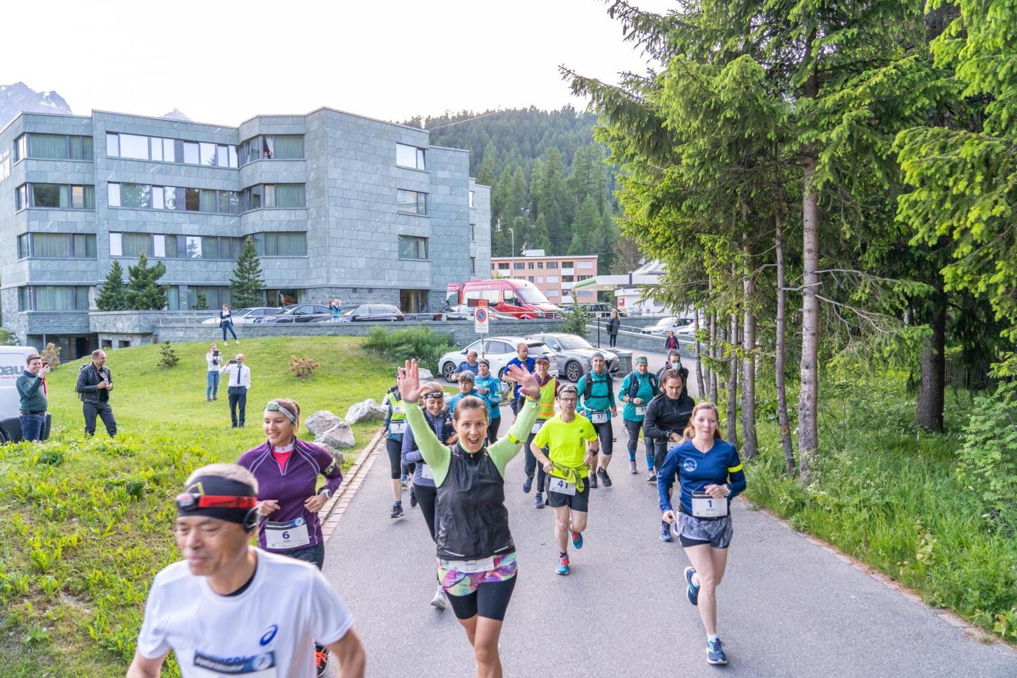
M 127 678 L 158 678 L 172 649 L 183 678 L 315 673 L 320 642 L 343 678 L 364 675 L 353 618 L 315 568 L 248 542 L 257 525 L 257 481 L 236 464 L 191 473 L 177 496 L 184 560 L 156 575 Z

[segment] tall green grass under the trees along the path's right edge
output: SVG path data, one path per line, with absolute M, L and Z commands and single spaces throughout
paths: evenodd
M 970 398 L 948 394 L 946 434 L 914 429 L 903 381 L 828 384 L 821 460 L 807 488 L 784 473 L 777 427 L 761 420 L 746 496 L 1010 642 L 1017 638 L 1017 525 L 986 515 L 957 479 Z

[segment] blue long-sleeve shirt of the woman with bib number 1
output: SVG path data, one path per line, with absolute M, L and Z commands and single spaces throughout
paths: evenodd
M 675 474 L 680 489 L 680 510 L 690 515 L 693 512 L 693 493 L 704 492 L 708 485 L 727 484 L 730 487 L 728 509 L 731 500 L 745 489 L 745 472 L 741 469 L 738 451 L 726 440 L 714 440 L 713 447 L 705 453 L 697 450 L 691 440 L 678 443 L 668 451 L 664 463 L 657 469 L 661 513 L 674 510 L 667 495 Z

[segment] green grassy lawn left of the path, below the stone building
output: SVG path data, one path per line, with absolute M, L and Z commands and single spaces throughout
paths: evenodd
M 243 431 L 230 429 L 225 383 L 219 401 L 205 402 L 206 343 L 175 344 L 180 361 L 172 369 L 157 366 L 156 345 L 109 351 L 115 440 L 101 422 L 95 439 L 83 436 L 74 393 L 83 361 L 51 374 L 51 440 L 0 447 L 0 674 L 123 676 L 152 578 L 178 559 L 172 497 L 184 478 L 262 442 L 261 407 L 272 398 L 295 399 L 303 418 L 319 409 L 343 416 L 354 402 L 380 401 L 393 368 L 361 341 L 245 340 L 237 348 L 253 379 Z M 319 368 L 298 380 L 291 355 Z M 377 427 L 353 427 L 358 447 L 345 451 L 346 467 Z M 164 675 L 177 675 L 176 668 Z

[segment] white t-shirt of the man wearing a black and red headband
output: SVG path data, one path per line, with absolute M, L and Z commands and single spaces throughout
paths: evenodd
M 310 678 L 314 641 L 342 638 L 353 617 L 310 563 L 257 552 L 257 570 L 239 596 L 220 596 L 184 561 L 156 575 L 137 651 L 173 649 L 183 678 Z

